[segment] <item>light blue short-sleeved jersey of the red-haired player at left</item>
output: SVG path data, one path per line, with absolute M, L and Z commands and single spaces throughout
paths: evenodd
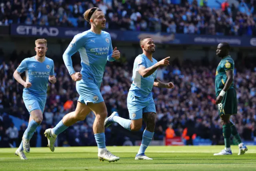
M 46 95 L 49 76 L 54 76 L 54 62 L 45 57 L 44 62 L 38 62 L 35 56 L 22 60 L 17 71 L 26 72 L 26 82 L 32 84 L 29 88 L 24 88 L 24 92 L 34 95 Z

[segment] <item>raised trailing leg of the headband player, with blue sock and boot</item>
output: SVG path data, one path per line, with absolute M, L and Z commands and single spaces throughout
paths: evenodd
M 48 139 L 48 147 L 52 152 L 54 151 L 54 143 L 57 135 L 74 123 L 83 121 L 90 111 L 91 109 L 88 106 L 78 101 L 75 111 L 66 114 L 53 129 L 49 128 L 45 130 L 44 135 Z

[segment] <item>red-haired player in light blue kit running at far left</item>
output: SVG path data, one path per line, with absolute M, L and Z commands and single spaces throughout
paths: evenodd
M 48 82 L 56 83 L 54 62 L 45 56 L 47 41 L 38 39 L 35 44 L 36 56 L 24 59 L 13 74 L 15 80 L 25 87 L 23 101 L 30 113 L 28 128 L 23 134 L 20 147 L 15 152 L 20 159 L 27 159 L 23 150 L 27 153 L 30 152 L 29 141 L 42 122 Z M 26 82 L 20 77 L 24 71 L 26 72 Z

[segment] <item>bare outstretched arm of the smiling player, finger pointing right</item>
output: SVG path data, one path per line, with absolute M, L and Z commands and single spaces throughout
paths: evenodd
M 148 76 L 150 76 L 151 74 L 153 74 L 158 67 L 160 66 L 168 66 L 169 65 L 169 59 L 170 57 L 164 58 L 163 60 L 157 62 L 156 64 L 154 64 L 153 66 L 146 68 L 144 66 L 140 67 L 138 72 L 140 73 L 140 75 L 143 78 L 146 78 Z

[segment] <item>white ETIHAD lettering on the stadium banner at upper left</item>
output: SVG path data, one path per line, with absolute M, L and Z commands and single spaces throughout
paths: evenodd
M 22 35 L 40 35 L 46 34 L 47 36 L 58 36 L 59 30 L 54 27 L 37 27 L 37 26 L 18 26 L 16 28 L 18 34 Z

